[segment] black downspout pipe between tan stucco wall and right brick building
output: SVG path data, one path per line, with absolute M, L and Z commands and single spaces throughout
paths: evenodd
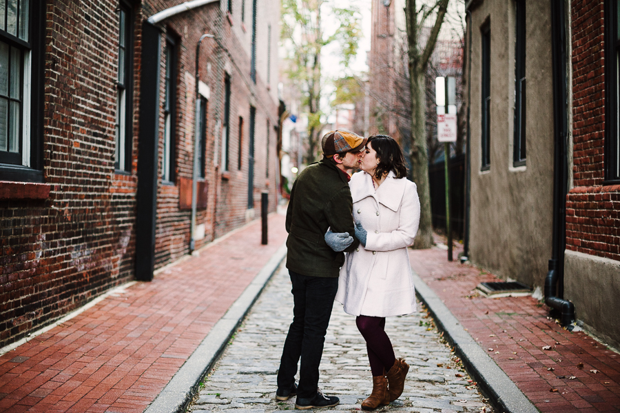
M 553 70 L 553 221 L 552 256 L 545 279 L 545 303 L 561 313 L 561 324 L 570 328 L 575 321 L 575 305 L 564 296 L 564 250 L 566 248 L 566 194 L 568 192 L 568 97 L 566 74 L 565 0 L 551 0 Z

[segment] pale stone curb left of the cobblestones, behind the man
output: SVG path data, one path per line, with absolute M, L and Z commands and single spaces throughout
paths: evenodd
M 145 413 L 173 413 L 185 410 L 198 391 L 200 381 L 211 370 L 230 337 L 286 256 L 285 243 L 271 256 L 265 267 L 258 272 L 226 314 L 213 326 L 192 356 L 189 356 L 189 359 L 183 363 L 153 403 L 146 408 Z

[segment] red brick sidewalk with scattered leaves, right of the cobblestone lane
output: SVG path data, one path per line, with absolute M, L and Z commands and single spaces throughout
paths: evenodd
M 616 352 L 563 330 L 531 296 L 477 296 L 476 285 L 501 280 L 447 255 L 439 248 L 409 253 L 413 270 L 541 412 L 620 412 Z

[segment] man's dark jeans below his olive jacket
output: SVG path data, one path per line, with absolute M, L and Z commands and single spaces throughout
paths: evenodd
M 307 276 L 291 270 L 289 274 L 293 283 L 293 323 L 282 350 L 278 388 L 291 387 L 301 357 L 297 396 L 307 399 L 316 394 L 318 387 L 319 364 L 338 278 Z

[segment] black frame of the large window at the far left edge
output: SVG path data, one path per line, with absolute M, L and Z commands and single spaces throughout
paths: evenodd
M 28 1 L 28 41 L 6 32 L 0 28 L 0 41 L 23 53 L 30 51 L 30 96 L 28 106 L 24 105 L 23 89 L 20 92 L 21 111 L 19 121 L 19 154 L 3 151 L 0 154 L 0 181 L 19 181 L 42 183 L 43 177 L 43 91 L 45 82 L 45 1 Z M 18 17 L 19 19 L 19 17 Z M 2 26 L 6 28 L 5 25 Z M 21 83 L 25 73 L 22 63 Z M 24 133 L 23 115 L 28 111 L 28 139 L 30 143 L 30 165 L 23 165 Z

